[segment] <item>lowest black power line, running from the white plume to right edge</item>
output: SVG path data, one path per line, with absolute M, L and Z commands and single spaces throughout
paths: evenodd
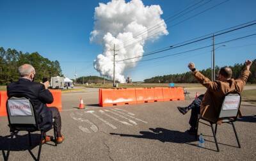
M 225 41 L 225 42 L 215 43 L 215 45 L 220 45 L 220 44 L 223 44 L 223 43 L 232 42 L 232 41 L 239 40 L 239 39 L 242 39 L 242 38 L 248 38 L 248 37 L 254 36 L 254 35 L 256 35 L 256 33 L 250 34 L 250 35 L 247 35 L 247 36 L 243 36 L 243 37 L 239 37 L 239 38 L 234 38 L 234 39 L 232 39 L 232 40 L 227 40 L 227 41 Z M 199 47 L 199 48 L 196 48 L 196 49 L 186 50 L 186 51 L 184 51 L 184 52 L 177 52 L 177 53 L 175 53 L 175 54 L 169 54 L 169 55 L 166 55 L 166 56 L 154 57 L 154 58 L 152 58 L 152 59 L 145 59 L 145 60 L 141 60 L 141 61 L 151 61 L 151 60 L 154 60 L 154 59 L 161 59 L 161 58 L 164 58 L 164 57 L 176 56 L 176 55 L 184 54 L 184 53 L 186 53 L 186 52 L 192 52 L 192 51 L 195 51 L 195 50 L 205 49 L 205 48 L 207 48 L 207 47 L 212 47 L 212 45 L 207 45 L 207 46 Z M 136 62 L 141 62 L 141 61 L 133 61 L 133 62 L 127 62 L 127 63 L 136 63 Z

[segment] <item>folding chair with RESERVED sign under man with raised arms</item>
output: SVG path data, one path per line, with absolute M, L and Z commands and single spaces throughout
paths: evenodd
M 232 124 L 232 127 L 234 129 L 234 133 L 236 135 L 236 140 L 237 140 L 237 144 L 238 144 L 238 148 L 241 148 L 238 136 L 237 136 L 237 132 L 236 132 L 236 128 L 234 125 L 234 122 L 237 120 L 237 115 L 240 109 L 240 105 L 241 105 L 241 95 L 237 92 L 230 92 L 227 93 L 223 99 L 223 103 L 221 105 L 220 108 L 220 112 L 219 112 L 219 116 L 217 120 L 221 120 L 222 123 L 228 123 L 228 124 Z M 216 122 L 212 122 L 209 121 L 208 119 L 203 118 L 202 116 L 198 117 L 197 123 L 196 123 L 196 139 L 198 136 L 198 123 L 200 123 L 200 119 L 203 119 L 204 121 L 207 121 L 211 124 L 211 128 L 212 128 L 212 134 L 214 137 L 214 141 L 216 144 L 216 148 L 217 151 L 220 151 L 219 146 L 218 146 L 218 142 L 216 139 L 216 132 L 217 132 L 217 121 Z M 215 124 L 215 130 L 213 128 L 213 124 Z M 207 125 L 207 124 L 206 124 Z

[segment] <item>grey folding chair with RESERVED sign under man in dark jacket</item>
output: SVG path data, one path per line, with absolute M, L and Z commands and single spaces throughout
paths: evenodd
M 6 102 L 6 109 L 8 114 L 8 121 L 11 133 L 11 139 L 13 136 L 20 131 L 28 132 L 29 139 L 29 147 L 31 148 L 31 132 L 40 131 L 40 143 L 38 149 L 38 155 L 35 160 L 40 160 L 41 148 L 42 148 L 42 139 L 44 137 L 44 131 L 40 130 L 36 121 L 35 109 L 28 98 L 17 98 L 12 97 L 9 98 Z M 56 141 L 56 129 L 54 128 L 54 140 Z M 6 156 L 4 156 L 4 160 L 8 160 L 10 154 L 10 147 L 8 147 L 8 151 Z M 57 146 L 57 142 L 55 142 L 55 146 Z M 29 148 L 29 150 L 30 150 Z M 29 151 L 30 152 L 30 151 Z

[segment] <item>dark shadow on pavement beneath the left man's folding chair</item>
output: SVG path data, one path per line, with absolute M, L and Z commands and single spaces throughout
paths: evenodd
M 7 155 L 6 152 L 9 150 L 9 148 L 10 148 L 10 155 L 12 155 L 12 151 L 28 150 L 31 157 L 36 159 L 35 155 L 33 155 L 31 150 L 33 150 L 36 146 L 39 145 L 39 141 L 40 141 L 40 134 L 31 134 L 31 146 L 29 146 L 28 134 L 15 135 L 15 138 L 13 139 L 11 139 L 11 135 L 6 135 L 4 137 L 0 136 L 0 150 L 2 151 L 4 160 L 6 160 L 6 155 Z

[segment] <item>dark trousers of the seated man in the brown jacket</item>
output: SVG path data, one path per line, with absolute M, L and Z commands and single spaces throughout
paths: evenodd
M 198 96 L 193 102 L 188 106 L 191 109 L 191 116 L 189 119 L 189 125 L 191 128 L 196 128 L 196 121 L 198 119 L 198 114 L 200 114 L 200 105 L 204 98 L 204 95 Z

